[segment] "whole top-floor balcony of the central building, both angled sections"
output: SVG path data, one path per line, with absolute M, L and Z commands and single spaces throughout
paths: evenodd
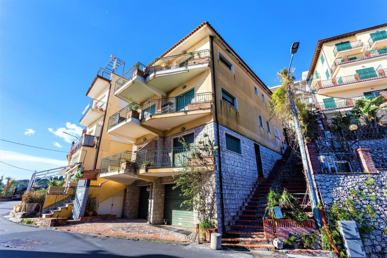
M 114 94 L 123 100 L 143 102 L 167 92 L 209 69 L 211 52 L 202 50 L 135 64 L 117 80 Z

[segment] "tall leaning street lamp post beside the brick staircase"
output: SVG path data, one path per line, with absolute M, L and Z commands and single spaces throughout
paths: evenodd
M 294 42 L 291 46 L 291 49 L 290 49 L 291 59 L 290 59 L 290 64 L 289 64 L 289 68 L 288 68 L 288 75 L 286 77 L 286 79 L 288 80 L 287 81 L 287 86 L 288 86 L 287 88 L 288 88 L 288 93 L 289 93 L 289 100 L 291 103 L 291 109 L 292 109 L 293 116 L 294 116 L 294 124 L 295 124 L 297 141 L 298 141 L 298 145 L 300 146 L 302 165 L 304 167 L 305 172 L 308 174 L 308 177 L 309 177 L 310 189 L 312 192 L 312 198 L 310 198 L 310 201 L 312 203 L 313 215 L 314 215 L 315 220 L 317 222 L 316 223 L 317 227 L 320 228 L 322 225 L 322 223 L 321 223 L 322 220 L 321 220 L 321 213 L 317 209 L 317 193 L 316 193 L 316 189 L 315 189 L 315 186 L 313 183 L 312 172 L 310 171 L 309 163 L 307 162 L 307 157 L 305 154 L 306 153 L 305 146 L 304 146 L 304 142 L 303 142 L 302 135 L 301 135 L 300 122 L 298 120 L 296 105 L 294 103 L 293 93 L 291 91 L 290 84 L 289 84 L 289 70 L 290 70 L 291 62 L 293 61 L 293 56 L 295 53 L 297 53 L 298 46 L 300 46 L 300 42 Z

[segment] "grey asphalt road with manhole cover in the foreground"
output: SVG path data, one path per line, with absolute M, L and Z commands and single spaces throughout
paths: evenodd
M 56 231 L 44 227 L 32 227 L 10 222 L 3 218 L 20 201 L 0 202 L 0 243 L 19 239 L 31 239 L 48 244 L 32 248 L 10 248 L 0 244 L 2 258 L 52 258 L 52 257 L 273 257 L 273 255 L 255 251 L 214 251 L 208 246 L 180 246 L 158 244 L 113 237 L 100 237 L 76 232 Z

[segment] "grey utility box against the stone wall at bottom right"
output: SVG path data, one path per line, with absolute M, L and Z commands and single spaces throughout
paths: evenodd
M 340 220 L 337 221 L 337 224 L 339 224 L 340 234 L 344 240 L 344 247 L 348 257 L 366 258 L 356 222 L 353 220 Z

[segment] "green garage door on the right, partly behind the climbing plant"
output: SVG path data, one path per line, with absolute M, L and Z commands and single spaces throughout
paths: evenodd
M 194 212 L 192 207 L 180 207 L 185 200 L 180 196 L 180 189 L 173 190 L 175 184 L 165 185 L 164 194 L 164 220 L 168 225 L 178 225 L 183 227 L 194 227 Z

